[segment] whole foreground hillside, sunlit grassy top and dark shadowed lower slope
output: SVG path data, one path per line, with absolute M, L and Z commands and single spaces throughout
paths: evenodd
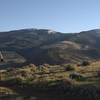
M 9 95 L 20 94 L 21 100 L 99 100 L 99 65 L 100 62 L 55 66 L 30 64 L 0 70 L 0 86 L 14 91 Z

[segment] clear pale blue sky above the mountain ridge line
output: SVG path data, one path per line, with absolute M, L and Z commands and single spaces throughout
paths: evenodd
M 0 0 L 0 31 L 100 29 L 100 0 Z

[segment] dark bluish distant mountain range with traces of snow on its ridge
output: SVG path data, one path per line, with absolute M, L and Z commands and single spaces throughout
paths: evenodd
M 100 59 L 100 29 L 77 34 L 47 29 L 0 32 L 0 51 L 14 51 L 34 64 L 77 63 Z

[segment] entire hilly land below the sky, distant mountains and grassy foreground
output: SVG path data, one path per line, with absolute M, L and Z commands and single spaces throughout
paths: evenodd
M 100 100 L 100 30 L 0 32 L 0 100 Z

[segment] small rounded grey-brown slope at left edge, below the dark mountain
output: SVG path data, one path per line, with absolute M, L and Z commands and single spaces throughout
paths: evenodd
M 22 66 L 26 60 L 24 57 L 13 51 L 2 51 L 3 61 L 0 61 L 0 69 Z

